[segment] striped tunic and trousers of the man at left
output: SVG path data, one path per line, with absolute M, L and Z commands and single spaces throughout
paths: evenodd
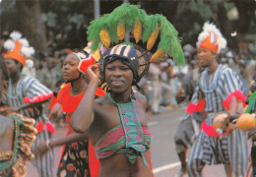
M 3 96 L 2 102 L 4 105 L 8 105 L 10 107 L 18 107 L 24 104 L 24 97 L 30 96 L 33 98 L 36 95 L 40 95 L 42 93 L 50 93 L 51 90 L 47 89 L 45 86 L 40 84 L 38 80 L 23 75 L 21 80 L 18 82 L 16 86 L 12 85 L 12 82 L 9 82 L 9 89 L 6 95 Z M 42 122 L 43 126 L 45 126 L 46 122 L 49 122 L 47 116 L 43 113 L 44 111 L 40 111 L 40 115 L 35 115 L 32 110 L 22 110 L 24 116 L 32 117 L 35 119 L 35 125 L 38 122 Z M 32 145 L 32 149 L 36 148 L 39 142 L 45 142 L 50 139 L 50 134 L 46 129 L 41 131 L 36 135 L 36 140 Z M 34 159 L 32 159 L 33 164 L 36 166 L 38 170 L 39 177 L 52 177 L 53 176 L 53 151 L 50 150 L 45 155 L 35 155 Z

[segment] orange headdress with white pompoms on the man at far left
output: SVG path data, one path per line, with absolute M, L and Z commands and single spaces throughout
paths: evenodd
M 29 41 L 26 38 L 22 38 L 22 36 L 19 31 L 13 31 L 10 34 L 11 38 L 4 42 L 4 48 L 7 49 L 7 52 L 3 54 L 3 57 L 17 60 L 25 66 L 27 57 L 31 57 L 34 54 L 34 49 L 30 46 Z

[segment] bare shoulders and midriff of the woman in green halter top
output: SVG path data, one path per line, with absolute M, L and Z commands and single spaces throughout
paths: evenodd
M 135 109 L 139 120 L 147 123 L 146 118 L 146 99 L 142 94 L 136 95 Z M 95 120 L 90 128 L 90 139 L 93 145 L 101 138 L 107 131 L 121 124 L 118 109 L 112 103 L 107 95 L 104 95 L 96 100 L 95 106 Z M 148 151 L 144 152 L 148 159 Z M 142 156 L 138 152 L 137 161 L 131 164 L 128 161 L 126 153 L 114 153 L 113 155 L 100 159 L 99 176 L 113 177 L 150 177 L 151 169 L 143 163 Z

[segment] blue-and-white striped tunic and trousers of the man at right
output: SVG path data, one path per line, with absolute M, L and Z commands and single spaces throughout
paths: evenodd
M 204 71 L 198 81 L 197 88 L 192 97 L 192 102 L 197 104 L 198 92 L 205 93 L 208 112 L 206 120 L 208 125 L 213 125 L 214 118 L 224 111 L 223 101 L 231 92 L 243 90 L 238 75 L 224 65 L 219 65 L 217 71 L 209 77 Z M 244 176 L 247 169 L 247 139 L 240 130 L 214 138 L 201 132 L 188 157 L 189 176 L 201 176 L 205 164 L 229 164 L 234 176 Z

